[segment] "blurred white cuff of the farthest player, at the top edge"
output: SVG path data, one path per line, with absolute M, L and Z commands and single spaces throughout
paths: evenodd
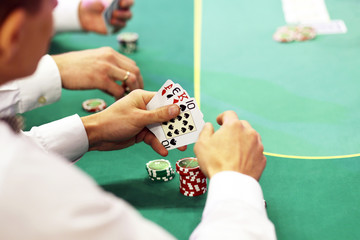
M 82 30 L 79 19 L 80 2 L 80 0 L 58 1 L 58 5 L 53 12 L 56 32 Z

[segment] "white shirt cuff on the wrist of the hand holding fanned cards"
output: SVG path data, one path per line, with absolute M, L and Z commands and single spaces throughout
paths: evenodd
M 78 115 L 33 127 L 24 134 L 45 151 L 55 152 L 71 161 L 77 160 L 89 149 L 85 127 Z

